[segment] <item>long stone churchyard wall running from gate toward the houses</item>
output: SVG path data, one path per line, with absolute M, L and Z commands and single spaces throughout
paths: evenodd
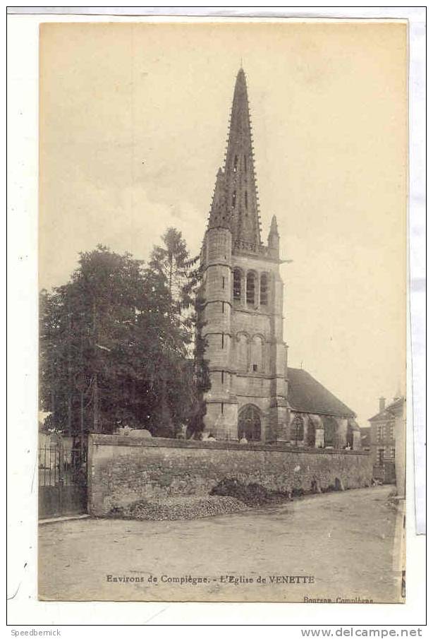
M 90 435 L 88 468 L 92 515 L 146 498 L 207 495 L 224 477 L 304 491 L 313 482 L 327 489 L 338 479 L 350 489 L 372 480 L 370 455 L 360 451 L 118 435 Z

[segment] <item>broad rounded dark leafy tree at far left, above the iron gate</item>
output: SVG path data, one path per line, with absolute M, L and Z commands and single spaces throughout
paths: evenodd
M 42 294 L 41 399 L 54 428 L 77 432 L 85 422 L 87 431 L 111 431 L 133 419 L 125 406 L 137 374 L 132 345 L 142 283 L 140 261 L 99 246 L 80 254 L 68 284 Z

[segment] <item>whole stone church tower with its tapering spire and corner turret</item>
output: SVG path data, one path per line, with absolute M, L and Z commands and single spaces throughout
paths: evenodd
M 211 389 L 205 432 L 218 439 L 288 439 L 287 347 L 279 232 L 260 237 L 247 84 L 236 78 L 224 169 L 202 245 L 202 329 Z

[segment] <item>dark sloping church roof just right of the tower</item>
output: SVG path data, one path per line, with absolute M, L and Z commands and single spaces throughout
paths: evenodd
M 288 403 L 293 410 L 315 414 L 355 417 L 343 404 L 304 369 L 287 369 Z

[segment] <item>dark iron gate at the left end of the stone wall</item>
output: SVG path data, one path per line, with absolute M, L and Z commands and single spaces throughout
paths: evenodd
M 87 449 L 39 448 L 39 518 L 87 511 Z

